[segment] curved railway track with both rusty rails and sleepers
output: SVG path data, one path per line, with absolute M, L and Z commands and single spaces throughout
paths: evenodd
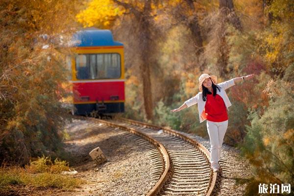
M 152 143 L 152 176 L 158 181 L 147 194 L 211 196 L 217 184 L 217 172 L 210 168 L 210 152 L 197 141 L 169 128 L 128 119 L 93 121 L 116 127 Z

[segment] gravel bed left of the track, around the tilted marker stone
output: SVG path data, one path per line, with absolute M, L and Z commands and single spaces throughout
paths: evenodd
M 67 132 L 71 138 L 67 150 L 75 158 L 76 177 L 88 182 L 73 195 L 144 196 L 153 187 L 148 152 L 156 148 L 150 143 L 142 145 L 138 136 L 86 120 L 74 120 Z M 97 166 L 91 159 L 89 152 L 95 147 L 103 151 L 106 163 Z

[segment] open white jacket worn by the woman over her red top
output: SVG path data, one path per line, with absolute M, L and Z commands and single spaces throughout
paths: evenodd
M 225 103 L 227 110 L 229 110 L 228 107 L 230 107 L 232 104 L 231 104 L 231 101 L 229 100 L 229 98 L 224 90 L 235 85 L 234 79 L 230 79 L 228 81 L 221 82 L 218 85 L 221 87 L 221 92 L 217 89 L 217 94 L 221 96 L 221 98 L 223 99 L 223 101 Z M 195 97 L 186 100 L 185 103 L 188 107 L 198 103 L 198 113 L 199 113 L 200 123 L 202 123 L 203 121 L 205 121 L 207 119 L 207 115 L 204 111 L 206 101 L 203 101 L 202 92 L 199 92 Z

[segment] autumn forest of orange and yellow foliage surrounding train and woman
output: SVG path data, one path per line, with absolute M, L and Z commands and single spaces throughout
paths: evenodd
M 197 94 L 201 73 L 218 82 L 254 73 L 228 90 L 224 142 L 254 168 L 247 193 L 261 182 L 293 185 L 293 18 L 292 0 L 3 0 L 0 161 L 64 156 L 64 43 L 81 27 L 98 27 L 125 46 L 127 118 L 208 138 L 196 108 L 170 110 Z

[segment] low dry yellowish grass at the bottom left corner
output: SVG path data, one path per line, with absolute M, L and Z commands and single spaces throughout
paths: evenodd
M 50 187 L 65 190 L 78 188 L 85 181 L 74 176 L 62 175 L 69 171 L 66 161 L 55 160 L 52 163 L 48 157 L 39 158 L 25 168 L 0 168 L 0 190 L 6 190 L 10 185 L 30 185 L 33 187 Z

